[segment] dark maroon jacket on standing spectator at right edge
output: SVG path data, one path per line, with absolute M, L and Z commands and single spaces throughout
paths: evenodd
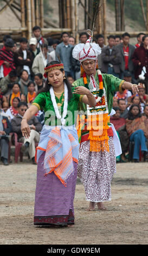
M 146 68 L 145 77 L 148 77 L 148 50 L 146 50 L 143 46 L 136 48 L 133 53 L 132 61 L 134 64 L 135 78 L 138 79 L 143 69 L 143 66 L 145 66 Z M 139 62 L 141 63 L 140 65 L 138 65 Z

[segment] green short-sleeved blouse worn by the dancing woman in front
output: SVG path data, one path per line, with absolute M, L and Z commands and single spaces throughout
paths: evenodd
M 72 93 L 74 92 L 74 87 L 72 87 Z M 61 95 L 60 99 L 58 99 L 55 96 L 56 103 L 61 103 L 62 106 L 59 109 L 59 113 L 62 115 L 63 113 L 63 105 L 64 101 L 63 99 L 63 94 Z M 66 126 L 74 125 L 76 121 L 76 117 L 78 114 L 78 109 L 79 109 L 79 103 L 82 100 L 82 96 L 79 94 L 73 94 L 72 98 L 70 101 L 68 101 L 68 107 L 67 107 L 67 115 L 66 115 Z M 61 120 L 56 118 L 55 111 L 54 111 L 54 106 L 53 102 L 50 96 L 50 92 L 46 93 L 40 93 L 35 97 L 35 100 L 32 105 L 35 105 L 38 110 L 43 109 L 45 115 L 45 125 L 61 125 Z

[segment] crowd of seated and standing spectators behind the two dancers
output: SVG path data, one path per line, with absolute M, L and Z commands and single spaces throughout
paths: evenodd
M 80 34 L 80 42 L 88 39 L 88 34 Z M 114 94 L 114 115 L 110 121 L 118 133 L 122 154 L 117 162 L 127 162 L 130 142 L 134 142 L 133 160 L 139 162 L 140 152 L 147 155 L 148 127 L 148 36 L 137 35 L 137 44 L 130 44 L 130 34 L 121 37 L 110 35 L 108 45 L 104 36 L 94 36 L 94 41 L 101 47 L 98 65 L 102 73 L 111 74 L 127 82 L 139 84 L 139 93 L 124 90 Z M 31 133 L 24 139 L 21 133 L 21 120 L 24 112 L 34 101 L 38 91 L 45 86 L 44 63 L 59 60 L 65 66 L 65 73 L 70 83 L 80 78 L 80 63 L 72 57 L 75 38 L 67 32 L 61 34 L 61 40 L 43 38 L 41 28 L 33 28 L 30 40 L 21 38 L 15 42 L 10 35 L 3 38 L 0 49 L 0 150 L 1 161 L 8 165 L 10 133 L 17 133 L 18 142 L 22 142 L 22 153 L 27 153 L 35 164 L 35 146 L 39 141 L 44 124 L 44 112 L 38 111 L 28 123 Z M 13 140 L 12 140 L 13 142 Z

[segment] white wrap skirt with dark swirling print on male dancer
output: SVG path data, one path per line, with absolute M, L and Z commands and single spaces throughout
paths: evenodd
M 116 172 L 113 137 L 109 137 L 108 145 L 110 152 L 91 152 L 89 141 L 80 145 L 78 176 L 85 187 L 86 200 L 91 202 L 111 200 L 111 180 Z

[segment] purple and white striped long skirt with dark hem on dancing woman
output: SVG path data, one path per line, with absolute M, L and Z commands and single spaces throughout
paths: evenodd
M 73 161 L 74 172 L 65 187 L 54 172 L 44 175 L 44 156 L 45 153 L 40 156 L 37 164 L 34 225 L 74 224 L 77 163 Z

